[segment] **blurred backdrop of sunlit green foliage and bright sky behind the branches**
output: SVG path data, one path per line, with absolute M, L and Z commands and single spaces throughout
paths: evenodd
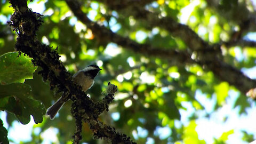
M 138 44 L 179 51 L 188 49 L 185 42 L 161 26 L 148 27 L 147 21 L 135 19 L 131 9 L 125 10 L 125 5 L 124 11 L 118 11 L 118 8 L 110 9 L 105 1 L 79 2 L 91 21 Z M 158 0 L 145 1 L 139 6 L 159 13 L 159 18 L 171 17 L 188 25 L 209 44 L 221 44 L 226 63 L 256 78 L 256 1 Z M 108 82 L 117 85 L 115 100 L 100 120 L 133 141 L 248 143 L 255 139 L 255 101 L 215 77 L 212 71 L 196 63 L 175 63 L 95 38 L 93 31 L 75 17 L 65 1 L 28 1 L 28 7 L 44 15 L 37 38 L 52 49 L 58 46 L 60 59 L 71 74 L 92 64 L 103 69 L 87 91 L 93 101 L 102 100 L 101 92 Z M 2 55 L 14 51 L 17 35 L 6 23 L 13 13 L 9 1 L 2 0 L 0 9 Z M 254 42 L 254 46 L 223 44 L 238 40 Z M 25 84 L 32 88 L 31 97 L 48 108 L 61 95 L 51 91 L 49 83 L 43 82 L 37 71 Z M 6 111 L 0 111 L 0 118 L 8 130 L 10 143 L 72 143 L 75 122 L 70 105 L 71 102 L 67 102 L 53 121 L 44 117 L 39 124 L 35 124 L 31 116 L 31 121 L 22 125 Z M 93 139 L 86 123 L 82 134 L 83 143 L 106 142 Z

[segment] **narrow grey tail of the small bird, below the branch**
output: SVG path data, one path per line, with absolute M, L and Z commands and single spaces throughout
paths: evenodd
M 59 98 L 51 107 L 47 108 L 46 116 L 49 115 L 51 119 L 54 119 L 55 115 L 58 113 L 60 108 L 64 105 L 62 97 Z

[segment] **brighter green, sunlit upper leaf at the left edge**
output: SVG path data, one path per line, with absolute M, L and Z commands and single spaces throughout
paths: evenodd
M 18 52 L 5 53 L 0 57 L 0 82 L 4 84 L 23 83 L 25 79 L 32 79 L 37 69 L 31 58 Z

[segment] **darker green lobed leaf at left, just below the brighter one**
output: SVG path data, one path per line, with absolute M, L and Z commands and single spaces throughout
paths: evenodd
M 35 123 L 43 121 L 45 108 L 43 103 L 29 98 L 31 87 L 27 84 L 0 85 L 0 109 L 15 114 L 22 124 L 30 121 L 30 115 Z

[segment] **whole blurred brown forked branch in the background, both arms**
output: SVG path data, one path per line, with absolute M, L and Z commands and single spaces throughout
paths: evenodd
M 189 49 L 193 51 L 196 57 L 194 60 L 191 60 L 190 54 L 184 52 L 164 50 L 160 47 L 153 48 L 149 44 L 137 44 L 128 38 L 113 33 L 113 31 L 103 26 L 99 26 L 96 22 L 92 22 L 86 17 L 86 14 L 82 12 L 81 5 L 79 5 L 77 1 L 66 0 L 75 16 L 89 27 L 94 35 L 100 37 L 101 41 L 108 40 L 142 54 L 180 62 L 182 61 L 183 63 L 187 61 L 199 63 L 203 68 L 213 71 L 215 76 L 221 81 L 226 81 L 230 85 L 236 86 L 236 88 L 244 94 L 256 86 L 256 81 L 254 79 L 245 76 L 240 70 L 222 61 L 220 44 L 210 45 L 203 41 L 203 39 L 188 26 L 182 25 L 169 17 L 159 18 L 158 13 L 149 12 L 143 9 L 143 7 L 135 4 L 133 1 L 122 1 L 122 3 L 121 1 L 99 1 L 105 3 L 112 10 L 118 12 L 121 11 L 125 16 L 133 15 L 133 17 L 138 20 L 146 21 L 150 28 L 161 27 L 168 30 L 173 36 L 181 38 L 188 45 Z M 118 8 L 118 5 L 123 5 L 122 9 Z M 175 57 L 175 55 L 178 55 L 178 57 Z

